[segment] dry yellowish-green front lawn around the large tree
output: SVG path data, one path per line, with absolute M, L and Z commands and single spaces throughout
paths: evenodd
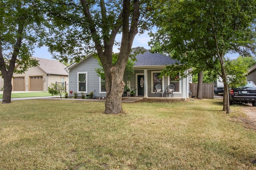
M 1 104 L 0 169 L 255 170 L 256 132 L 220 100 L 122 103 L 24 100 Z

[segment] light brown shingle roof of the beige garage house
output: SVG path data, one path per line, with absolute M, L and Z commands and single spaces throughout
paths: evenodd
M 60 61 L 38 57 L 32 58 L 38 60 L 38 67 L 40 67 L 47 74 L 68 75 L 67 71 L 65 70 L 66 66 Z

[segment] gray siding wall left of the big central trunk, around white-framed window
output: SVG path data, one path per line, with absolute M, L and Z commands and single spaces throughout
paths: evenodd
M 90 92 L 95 90 L 94 95 L 96 97 L 106 97 L 105 93 L 100 93 L 100 78 L 95 72 L 96 68 L 100 68 L 98 65 L 98 59 L 95 59 L 93 56 L 88 57 L 84 61 L 80 62 L 75 67 L 71 68 L 69 71 L 69 91 L 73 91 L 72 94 L 69 94 L 70 97 L 74 96 L 74 92 L 78 92 L 78 80 L 77 73 L 78 72 L 87 72 L 87 93 L 84 95 L 88 95 Z M 78 96 L 81 96 L 81 93 L 78 93 Z

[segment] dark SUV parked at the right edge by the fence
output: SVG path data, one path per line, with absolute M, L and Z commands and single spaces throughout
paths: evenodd
M 247 84 L 243 87 L 230 89 L 229 102 L 232 105 L 234 102 L 252 103 L 256 106 L 256 85 L 253 81 L 246 81 Z

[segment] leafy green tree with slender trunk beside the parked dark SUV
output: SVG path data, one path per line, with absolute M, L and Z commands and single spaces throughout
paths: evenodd
M 255 53 L 256 1 L 167 0 L 165 3 L 156 12 L 159 29 L 152 44 L 159 51 L 173 49 L 173 57 L 188 57 L 187 62 L 193 65 L 213 66 L 211 69 L 224 80 L 223 110 L 230 113 L 224 56 L 229 52 Z

